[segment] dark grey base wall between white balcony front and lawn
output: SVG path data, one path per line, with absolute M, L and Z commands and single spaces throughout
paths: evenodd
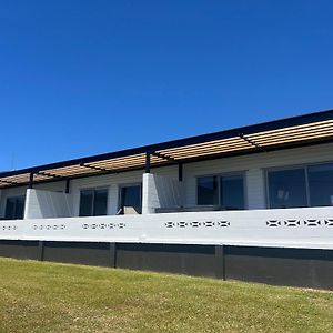
M 0 256 L 333 290 L 333 250 L 0 240 Z

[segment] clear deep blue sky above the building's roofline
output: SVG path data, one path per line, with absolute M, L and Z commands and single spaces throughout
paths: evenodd
M 333 1 L 0 0 L 0 170 L 333 108 Z

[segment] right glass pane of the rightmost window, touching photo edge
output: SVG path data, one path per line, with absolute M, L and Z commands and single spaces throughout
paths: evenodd
M 307 178 L 310 204 L 333 205 L 333 164 L 309 167 Z

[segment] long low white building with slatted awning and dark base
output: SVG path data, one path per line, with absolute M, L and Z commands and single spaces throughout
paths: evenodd
M 333 110 L 2 172 L 0 255 L 333 289 Z

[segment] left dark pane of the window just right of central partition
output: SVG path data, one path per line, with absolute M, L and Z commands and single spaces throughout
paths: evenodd
M 216 176 L 198 179 L 198 204 L 219 204 Z

